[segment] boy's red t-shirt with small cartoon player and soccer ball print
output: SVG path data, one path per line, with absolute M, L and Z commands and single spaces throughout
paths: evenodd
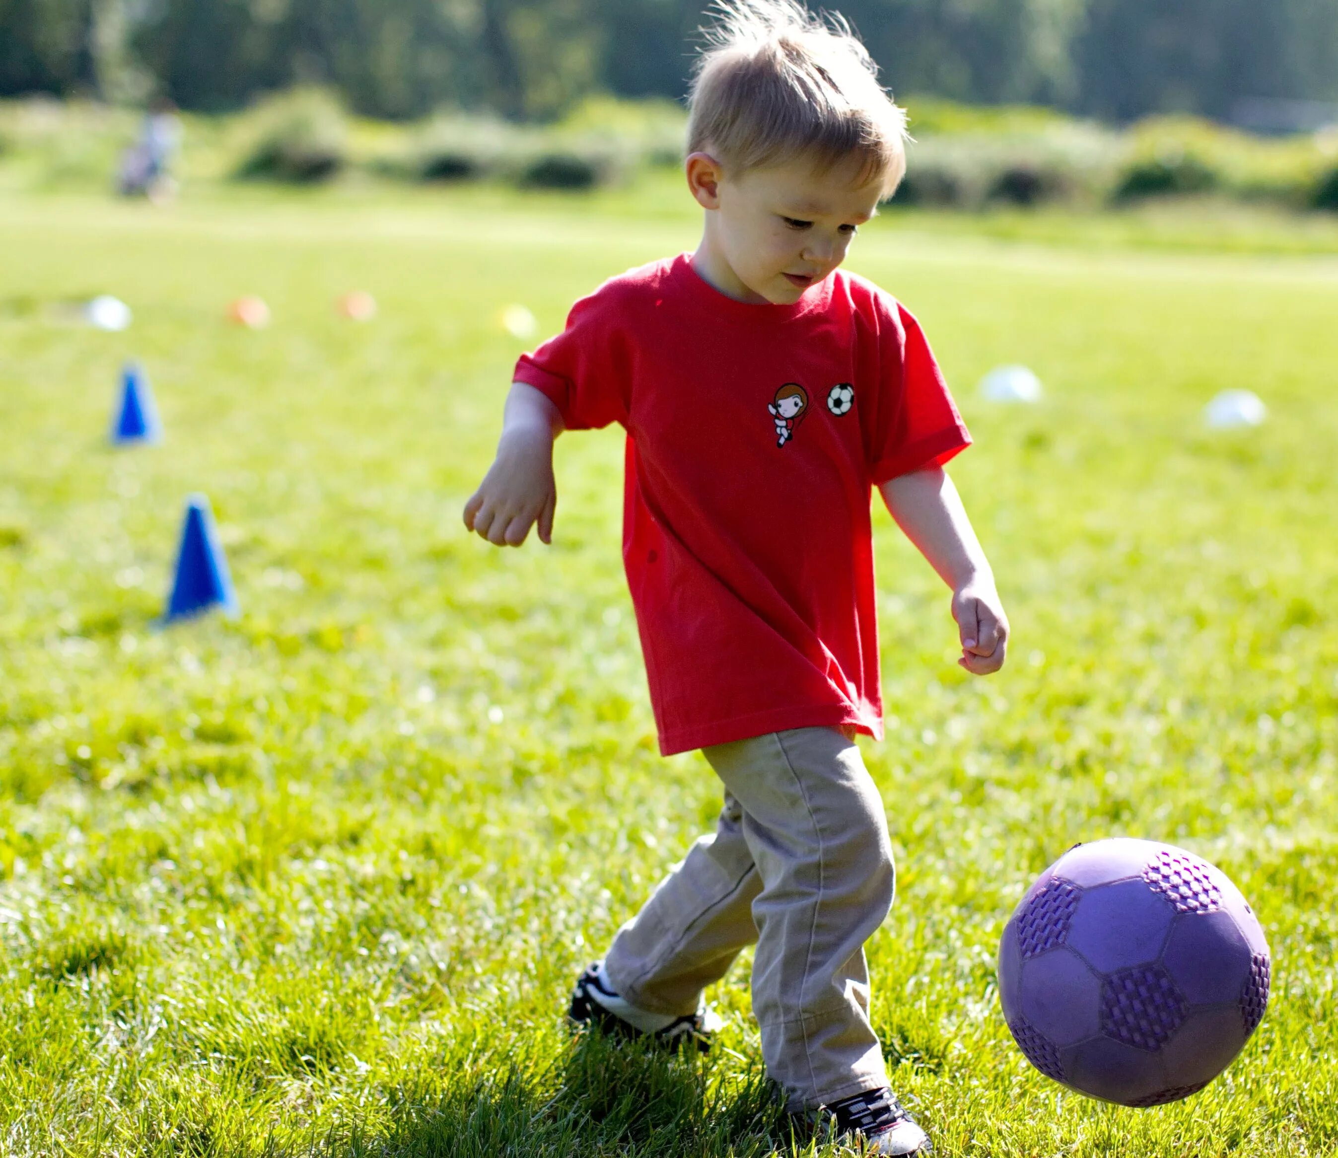
M 628 431 L 622 556 L 665 755 L 882 739 L 872 487 L 970 444 L 910 313 L 842 270 L 749 305 L 681 254 L 578 301 L 515 380 L 567 430 Z

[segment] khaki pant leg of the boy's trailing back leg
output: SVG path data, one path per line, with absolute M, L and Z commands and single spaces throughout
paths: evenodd
M 701 991 L 757 940 L 752 904 L 761 878 L 743 833 L 743 809 L 725 794 L 713 835 L 701 837 L 613 940 L 605 969 L 638 1009 L 693 1013 Z

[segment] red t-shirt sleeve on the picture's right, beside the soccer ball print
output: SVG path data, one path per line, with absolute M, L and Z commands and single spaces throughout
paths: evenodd
M 879 316 L 882 382 L 868 454 L 875 486 L 942 466 L 971 444 L 919 323 L 891 299 Z

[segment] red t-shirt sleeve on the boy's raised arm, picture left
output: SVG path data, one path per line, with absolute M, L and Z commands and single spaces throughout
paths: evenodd
M 628 424 L 630 356 L 617 324 L 617 292 L 605 285 L 581 299 L 562 333 L 520 356 L 512 382 L 542 391 L 567 430 Z

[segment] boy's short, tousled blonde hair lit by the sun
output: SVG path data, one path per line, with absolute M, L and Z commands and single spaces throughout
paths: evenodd
M 906 110 L 850 23 L 796 0 L 716 0 L 704 31 L 688 119 L 688 153 L 737 171 L 809 157 L 858 163 L 855 183 L 906 175 Z

